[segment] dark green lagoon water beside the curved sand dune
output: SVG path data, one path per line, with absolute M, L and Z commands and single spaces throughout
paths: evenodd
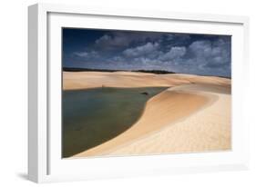
M 166 87 L 94 88 L 64 91 L 62 156 L 104 143 L 138 121 L 149 98 Z

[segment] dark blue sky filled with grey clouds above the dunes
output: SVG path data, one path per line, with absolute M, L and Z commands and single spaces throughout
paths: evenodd
M 63 66 L 229 76 L 231 37 L 63 29 Z

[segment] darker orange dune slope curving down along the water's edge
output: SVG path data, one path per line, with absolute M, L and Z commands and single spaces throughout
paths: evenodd
M 138 152 L 134 150 L 135 148 L 128 148 L 128 150 L 123 148 L 128 147 L 129 144 L 138 142 L 140 139 L 158 133 L 167 126 L 172 126 L 175 123 L 179 123 L 180 121 L 187 119 L 192 114 L 198 113 L 203 108 L 218 100 L 218 96 L 215 94 L 200 93 L 191 90 L 191 88 L 198 90 L 199 85 L 191 84 L 188 89 L 186 88 L 186 85 L 177 86 L 176 88 L 168 89 L 154 96 L 148 100 L 145 110 L 138 122 L 126 132 L 119 134 L 114 139 L 106 143 L 102 143 L 97 147 L 91 148 L 83 153 L 78 153 L 71 158 L 158 152 L 158 150 L 153 148 L 145 148 L 145 152 L 143 148 L 140 149 L 137 145 L 136 149 L 140 150 Z M 152 143 L 151 145 L 155 147 L 154 144 L 156 143 Z M 159 146 L 165 147 L 165 144 Z M 118 150 L 123 151 L 118 153 Z

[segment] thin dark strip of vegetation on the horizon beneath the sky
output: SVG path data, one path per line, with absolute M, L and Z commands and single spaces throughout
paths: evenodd
M 80 67 L 63 67 L 65 72 L 141 72 L 141 73 L 151 73 L 151 74 L 175 74 L 174 72 L 169 72 L 165 70 L 108 70 L 108 69 L 90 69 L 90 68 L 80 68 Z

